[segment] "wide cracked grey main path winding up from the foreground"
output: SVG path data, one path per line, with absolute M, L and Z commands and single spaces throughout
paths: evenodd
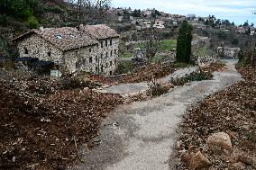
M 215 72 L 214 80 L 193 82 L 150 101 L 120 106 L 105 119 L 96 139 L 102 143 L 90 150 L 86 146 L 82 148 L 80 153 L 86 162 L 72 169 L 172 169 L 169 158 L 175 155 L 172 147 L 176 142 L 178 123 L 187 107 L 241 80 L 234 69 L 235 62 L 231 60 L 227 64 L 226 71 Z

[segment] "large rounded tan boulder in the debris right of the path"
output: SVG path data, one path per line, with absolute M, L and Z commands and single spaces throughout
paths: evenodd
M 206 141 L 208 146 L 223 148 L 229 151 L 233 150 L 231 139 L 227 133 L 218 132 L 208 137 Z

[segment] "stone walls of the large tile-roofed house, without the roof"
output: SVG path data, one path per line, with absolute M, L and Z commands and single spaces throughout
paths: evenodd
M 112 40 L 112 45 L 110 45 L 110 40 Z M 103 42 L 103 48 L 101 47 L 101 41 Z M 107 46 L 105 46 L 105 41 L 107 41 Z M 63 52 L 50 42 L 41 39 L 37 34 L 32 34 L 18 42 L 18 49 L 20 57 L 50 60 L 60 67 L 66 66 L 69 73 L 83 70 L 110 76 L 114 74 L 117 66 L 118 45 L 118 38 L 99 40 L 97 45 Z M 25 54 L 25 50 L 28 54 Z

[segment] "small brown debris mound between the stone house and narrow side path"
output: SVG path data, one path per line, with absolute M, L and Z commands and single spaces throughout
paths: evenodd
M 160 65 L 160 64 L 151 64 L 149 66 L 140 67 L 135 73 L 124 76 L 119 80 L 118 83 L 139 83 L 142 81 L 149 81 L 152 78 L 158 79 L 175 71 L 174 67 L 171 64 Z

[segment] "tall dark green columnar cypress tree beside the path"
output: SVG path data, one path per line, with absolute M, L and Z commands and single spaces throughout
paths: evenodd
M 191 56 L 191 41 L 192 41 L 193 27 L 187 23 L 182 22 L 181 28 L 178 31 L 177 53 L 176 58 L 178 62 L 189 63 Z

